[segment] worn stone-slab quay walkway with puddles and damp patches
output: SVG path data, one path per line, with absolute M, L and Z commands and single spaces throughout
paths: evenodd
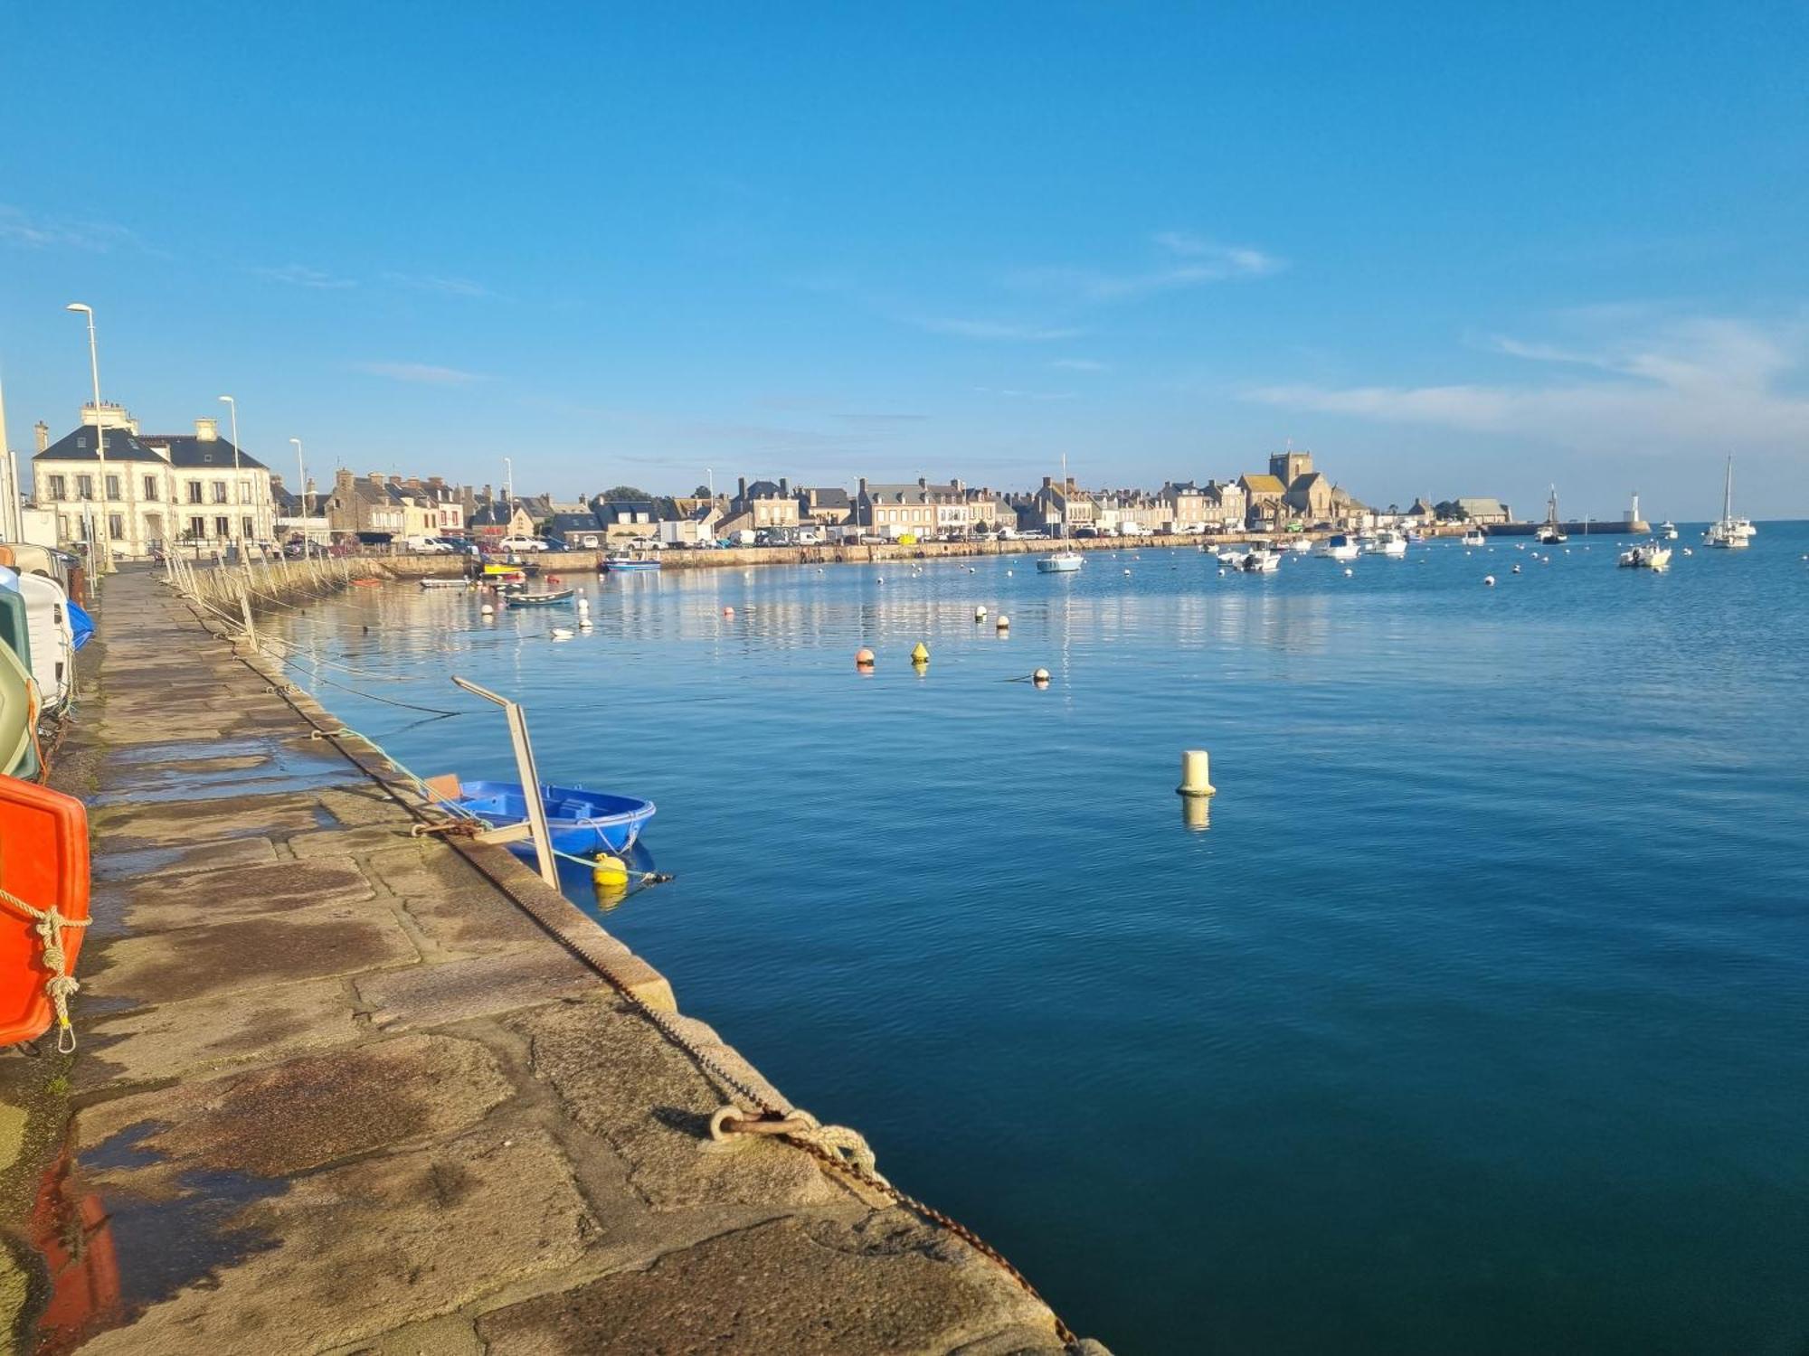
M 948 1231 L 776 1139 L 713 1143 L 724 1092 L 150 575 L 107 582 L 103 629 L 71 739 L 96 924 L 40 1199 L 67 1248 L 13 1248 L 49 1347 L 1062 1351 Z M 673 1007 L 507 852 L 465 852 Z

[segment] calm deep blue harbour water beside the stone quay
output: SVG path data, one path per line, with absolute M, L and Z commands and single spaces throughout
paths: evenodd
M 608 928 L 1120 1356 L 1802 1356 L 1809 524 L 1621 544 L 586 579 L 570 642 L 398 586 L 289 633 L 658 801 L 677 880 Z M 318 692 L 512 776 L 494 709 Z

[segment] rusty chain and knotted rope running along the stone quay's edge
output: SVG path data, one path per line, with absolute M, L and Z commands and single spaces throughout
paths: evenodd
M 411 772 L 407 767 L 403 767 L 387 752 L 384 752 L 382 745 L 378 745 L 374 739 L 371 739 L 365 734 L 360 734 L 358 730 L 353 730 L 349 725 L 333 725 L 333 727 L 322 725 L 313 716 L 313 712 L 309 712 L 302 705 L 297 705 L 295 702 L 297 689 L 293 687 L 293 683 L 289 685 L 277 683 L 270 678 L 268 673 L 262 673 L 255 665 L 251 665 L 244 654 L 237 654 L 237 658 L 248 669 L 264 678 L 264 682 L 268 682 L 277 691 L 277 694 L 289 703 L 295 714 L 298 714 L 313 730 L 311 738 L 329 741 L 335 749 L 340 750 L 340 754 L 346 756 L 346 761 L 349 761 L 367 777 L 371 777 L 380 786 L 385 786 L 385 790 L 391 790 L 391 794 L 394 794 L 394 790 L 389 786 L 389 781 L 382 776 L 382 772 L 371 767 L 371 759 L 360 758 L 347 747 L 349 739 L 360 739 L 376 754 L 376 758 L 384 761 L 385 767 L 398 772 L 402 779 L 405 779 L 418 792 L 425 792 L 425 783 L 421 783 L 421 779 L 414 776 L 414 772 Z M 347 691 L 356 692 L 356 689 L 347 689 Z M 369 696 L 369 694 L 360 692 L 360 696 Z M 407 703 L 391 703 L 391 705 L 407 705 Z M 407 810 L 418 821 L 416 828 L 421 833 L 443 835 L 445 843 L 454 852 L 458 852 L 467 862 L 470 862 L 470 866 L 478 870 L 492 886 L 496 886 L 510 902 L 514 902 L 516 908 L 526 913 L 528 918 L 532 918 L 541 928 L 541 931 L 545 931 L 552 940 L 555 940 L 573 956 L 582 960 L 599 978 L 604 980 L 604 984 L 608 984 L 617 993 L 619 998 L 622 998 L 622 1002 L 633 1012 L 637 1012 L 655 1031 L 658 1031 L 660 1036 L 664 1036 L 678 1050 L 682 1050 L 686 1058 L 691 1059 L 691 1063 L 696 1065 L 696 1069 L 702 1074 L 715 1079 L 715 1083 L 722 1090 L 731 1094 L 734 1101 L 731 1101 L 727 1106 L 722 1106 L 711 1117 L 713 1134 L 772 1135 L 791 1144 L 792 1148 L 809 1154 L 829 1172 L 841 1173 L 843 1177 L 859 1184 L 867 1191 L 881 1199 L 892 1201 L 894 1204 L 903 1206 L 919 1219 L 946 1229 L 948 1233 L 968 1244 L 975 1253 L 979 1253 L 993 1266 L 997 1266 L 1000 1271 L 1004 1271 L 1008 1276 L 1011 1276 L 1011 1280 L 1015 1280 L 1026 1295 L 1029 1295 L 1037 1304 L 1047 1309 L 1049 1318 L 1055 1323 L 1055 1334 L 1062 1342 L 1062 1345 L 1069 1352 L 1080 1351 L 1082 1347 L 1080 1338 L 1062 1320 L 1062 1316 L 1055 1311 L 1055 1307 L 1042 1296 L 1042 1291 L 1037 1289 L 1037 1285 L 1029 1280 L 1029 1276 L 1018 1271 L 1004 1253 L 1000 1253 L 997 1248 L 986 1242 L 966 1224 L 950 1215 L 944 1215 L 935 1206 L 919 1201 L 908 1191 L 901 1191 L 897 1186 L 881 1177 L 874 1166 L 876 1163 L 874 1154 L 867 1146 L 867 1141 L 859 1135 L 859 1132 L 850 1130 L 847 1126 L 819 1125 L 816 1117 L 810 1116 L 809 1112 L 803 1112 L 791 1105 L 783 1105 L 783 1099 L 769 1097 L 760 1088 L 749 1087 L 749 1083 L 745 1083 L 734 1072 L 725 1069 L 709 1050 L 702 1049 L 695 1040 L 691 1040 L 677 1025 L 675 1014 L 662 1012 L 660 1009 L 651 1007 L 639 993 L 635 993 L 635 989 L 630 987 L 630 984 L 615 973 L 615 967 L 610 964 L 610 958 L 599 953 L 595 940 L 588 935 L 590 929 L 586 929 L 584 933 L 572 929 L 563 918 L 557 917 L 557 913 L 545 897 L 537 899 L 534 895 L 523 893 L 521 888 L 508 879 L 508 873 L 497 871 L 492 861 L 488 859 L 488 853 L 478 852 L 476 848 L 479 844 L 474 844 L 465 837 L 467 830 L 463 830 L 461 824 L 469 821 L 461 819 L 459 815 L 461 814 L 470 815 L 470 812 L 465 812 L 463 806 L 452 806 L 445 801 L 416 801 L 414 797 L 407 796 L 396 796 L 396 803 L 402 805 L 402 808 Z M 450 819 L 436 815 L 450 815 Z M 470 819 L 476 819 L 476 815 L 470 815 Z M 555 855 L 570 857 L 570 853 L 555 853 Z M 508 857 L 508 853 L 505 853 L 505 857 Z M 512 857 L 508 857 L 508 861 L 514 862 Z M 572 857 L 572 861 L 584 861 L 584 859 Z M 534 879 L 535 884 L 539 884 L 537 877 L 530 879 Z M 572 904 L 563 895 L 557 895 L 557 899 L 568 909 L 572 908 Z

